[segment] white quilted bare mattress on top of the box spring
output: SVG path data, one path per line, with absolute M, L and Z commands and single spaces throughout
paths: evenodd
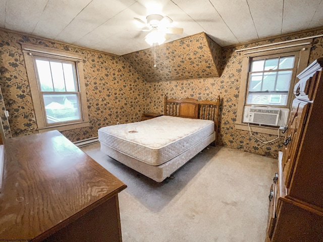
M 214 133 L 211 120 L 159 116 L 98 130 L 105 145 L 150 165 L 180 155 Z

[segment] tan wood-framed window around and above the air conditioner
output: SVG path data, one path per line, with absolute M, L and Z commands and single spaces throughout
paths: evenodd
M 311 39 L 254 47 L 243 52 L 235 128 L 249 130 L 249 107 L 280 108 L 287 119 L 297 75 L 307 67 Z M 245 122 L 245 123 L 244 123 Z M 277 134 L 276 127 L 253 126 L 254 132 Z

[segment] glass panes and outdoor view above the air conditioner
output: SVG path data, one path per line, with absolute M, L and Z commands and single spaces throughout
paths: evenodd
M 286 106 L 294 62 L 293 55 L 252 59 L 246 103 Z

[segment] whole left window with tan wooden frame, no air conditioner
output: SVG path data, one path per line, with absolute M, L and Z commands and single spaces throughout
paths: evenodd
M 89 126 L 80 56 L 23 44 L 38 130 Z

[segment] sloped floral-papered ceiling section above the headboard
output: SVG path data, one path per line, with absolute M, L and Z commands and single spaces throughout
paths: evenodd
M 218 52 L 214 53 L 215 61 L 209 42 L 212 51 Z M 205 33 L 157 45 L 156 67 L 154 47 L 125 54 L 123 57 L 148 82 L 221 76 L 221 47 L 207 38 Z

